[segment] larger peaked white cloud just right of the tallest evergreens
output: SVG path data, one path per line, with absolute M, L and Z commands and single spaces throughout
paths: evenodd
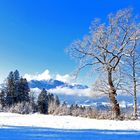
M 51 79 L 51 75 L 49 70 L 45 70 L 43 73 L 41 74 L 35 74 L 35 75 L 30 75 L 30 74 L 25 74 L 24 78 L 26 78 L 28 81 L 31 80 L 49 80 Z

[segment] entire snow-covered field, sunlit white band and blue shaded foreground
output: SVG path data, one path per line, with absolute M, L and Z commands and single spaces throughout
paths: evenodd
M 140 121 L 0 113 L 0 140 L 135 140 Z

